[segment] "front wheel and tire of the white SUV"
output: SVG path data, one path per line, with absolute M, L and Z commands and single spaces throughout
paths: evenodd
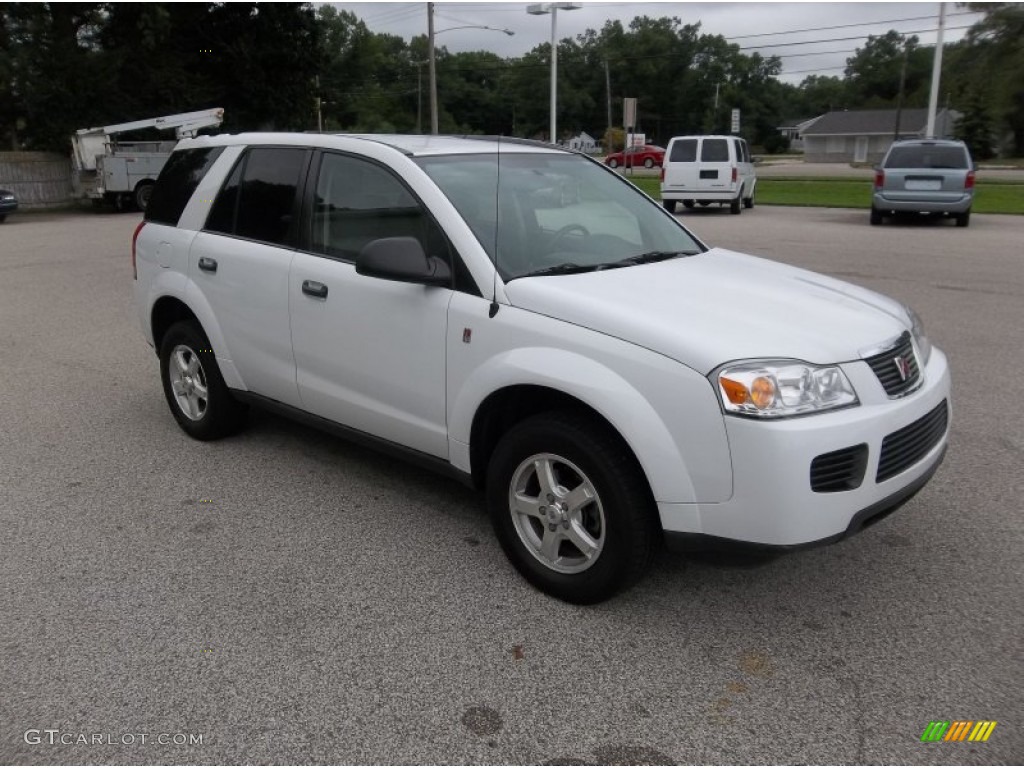
M 636 459 L 618 435 L 585 415 L 540 414 L 510 429 L 490 458 L 486 497 L 512 564 L 566 602 L 597 603 L 636 582 L 658 540 Z M 584 501 L 573 509 L 573 499 Z

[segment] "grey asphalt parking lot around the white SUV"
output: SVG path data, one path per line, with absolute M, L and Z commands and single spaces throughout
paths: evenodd
M 589 608 L 528 587 L 450 480 L 266 415 L 190 440 L 135 319 L 138 216 L 8 219 L 0 764 L 1020 763 L 1024 217 L 680 218 L 913 305 L 951 444 L 847 542 L 663 555 Z M 922 743 L 933 720 L 998 725 Z

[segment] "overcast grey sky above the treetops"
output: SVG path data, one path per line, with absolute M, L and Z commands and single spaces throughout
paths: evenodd
M 427 31 L 425 2 L 332 4 L 354 12 L 374 32 L 400 35 L 408 40 Z M 435 3 L 437 45 L 453 52 L 489 50 L 501 56 L 522 55 L 551 39 L 551 16 L 526 13 L 528 4 L 479 0 Z M 868 35 L 882 35 L 895 29 L 916 34 L 923 44 L 934 44 L 939 13 L 937 2 L 624 3 L 580 0 L 580 4 L 583 7 L 578 10 L 559 11 L 559 39 L 579 35 L 587 29 L 600 30 L 612 18 L 620 19 L 625 27 L 640 15 L 678 16 L 683 24 L 699 22 L 702 32 L 723 35 L 749 53 L 757 50 L 764 55 L 782 56 L 782 79 L 794 83 L 810 74 L 842 75 L 847 57 L 863 45 Z M 969 27 L 980 17 L 979 13 L 970 13 L 954 3 L 947 3 L 945 41 L 958 40 L 966 29 L 957 28 Z M 443 32 L 464 25 L 506 29 L 515 35 L 479 29 Z M 822 27 L 839 29 L 818 29 Z M 817 31 L 797 32 L 808 29 Z

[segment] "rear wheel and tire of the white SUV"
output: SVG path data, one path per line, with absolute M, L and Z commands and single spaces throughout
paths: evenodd
M 196 323 L 175 323 L 164 334 L 160 379 L 175 421 L 197 440 L 225 437 L 244 424 L 247 409 L 227 391 L 210 342 Z

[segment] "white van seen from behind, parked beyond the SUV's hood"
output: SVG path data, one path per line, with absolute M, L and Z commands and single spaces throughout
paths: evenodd
M 682 201 L 729 204 L 732 213 L 754 207 L 758 178 L 751 151 L 738 136 L 676 136 L 669 141 L 662 166 L 662 201 L 675 211 Z

